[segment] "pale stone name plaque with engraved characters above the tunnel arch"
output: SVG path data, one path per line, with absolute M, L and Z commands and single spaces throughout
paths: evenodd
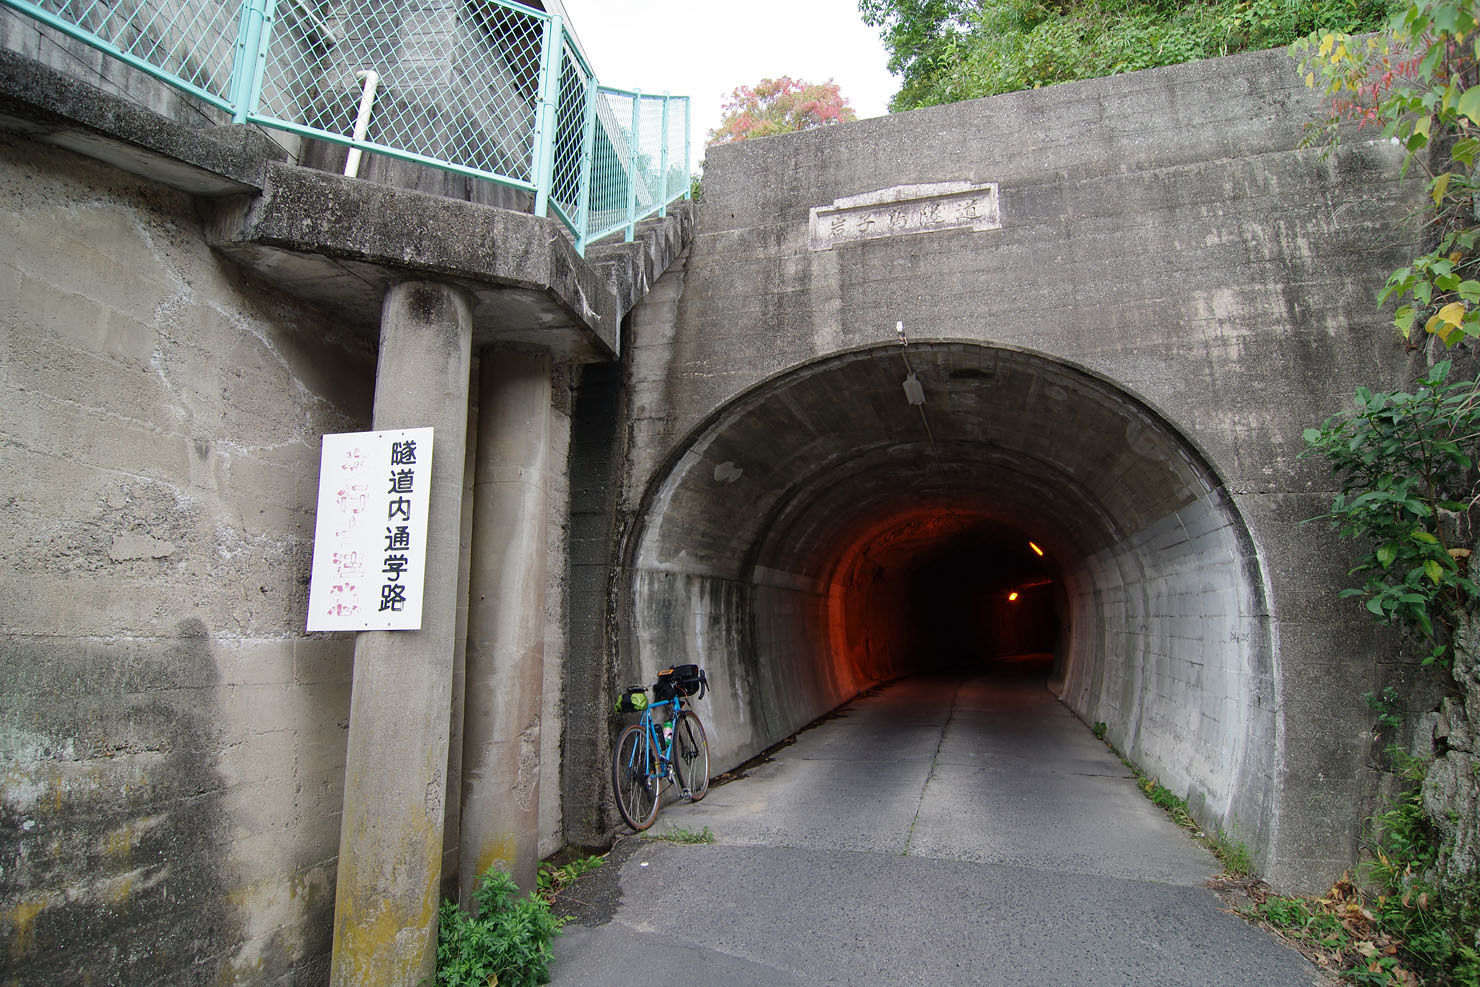
M 876 192 L 845 195 L 832 206 L 814 206 L 808 246 L 832 250 L 844 243 L 907 237 L 943 229 L 1000 229 L 998 183 L 935 182 L 895 185 Z

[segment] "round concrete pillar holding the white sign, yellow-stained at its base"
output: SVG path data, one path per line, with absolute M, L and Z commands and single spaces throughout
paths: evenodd
M 333 987 L 417 984 L 435 971 L 471 361 L 465 293 L 419 281 L 386 292 L 374 428 L 437 429 L 426 587 L 420 630 L 355 639 Z

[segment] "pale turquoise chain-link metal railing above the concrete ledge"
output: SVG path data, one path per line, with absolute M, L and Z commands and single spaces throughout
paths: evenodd
M 0 4 L 237 123 L 527 191 L 582 253 L 688 194 L 688 99 L 598 84 L 561 18 L 512 0 Z

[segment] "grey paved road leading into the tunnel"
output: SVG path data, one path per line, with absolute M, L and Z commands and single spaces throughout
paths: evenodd
M 663 842 L 709 827 L 713 843 Z M 559 903 L 555 987 L 1311 987 L 1035 678 L 910 679 L 665 805 Z

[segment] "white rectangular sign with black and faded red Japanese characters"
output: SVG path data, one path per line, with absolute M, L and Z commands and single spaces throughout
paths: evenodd
M 309 630 L 420 630 L 432 429 L 326 435 Z

